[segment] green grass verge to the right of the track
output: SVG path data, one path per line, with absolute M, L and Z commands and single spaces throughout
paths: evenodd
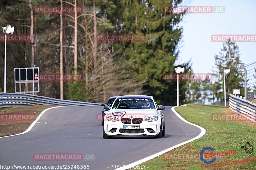
M 233 113 L 225 107 L 211 107 L 188 104 L 186 107 L 176 107 L 175 110 L 186 120 L 204 127 L 206 135 L 188 144 L 173 149 L 168 153 L 197 153 L 205 147 L 212 147 L 215 152 L 236 151 L 236 154 L 217 157 L 214 163 L 235 161 L 240 159 L 256 159 L 256 123 L 254 122 L 217 122 L 211 120 L 212 114 Z M 165 132 L 171 134 L 171 132 Z M 246 142 L 254 146 L 251 154 L 241 149 Z M 161 143 L 160 143 L 161 144 Z M 171 144 L 170 144 L 171 146 Z M 202 169 L 201 160 L 163 160 L 163 155 L 142 163 L 147 169 Z M 206 169 L 256 169 L 256 161 L 251 163 L 220 166 Z

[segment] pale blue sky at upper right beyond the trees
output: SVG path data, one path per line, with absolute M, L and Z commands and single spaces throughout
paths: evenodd
M 256 34 L 256 0 L 191 0 L 189 6 L 224 6 L 224 13 L 186 14 L 181 25 L 183 38 L 180 41 L 179 59 L 175 64 L 192 58 L 194 73 L 212 73 L 214 55 L 219 54 L 222 42 L 212 42 L 212 34 Z M 256 42 L 237 42 L 240 60 L 246 65 L 256 61 Z M 255 82 L 253 68 L 247 68 L 248 83 Z

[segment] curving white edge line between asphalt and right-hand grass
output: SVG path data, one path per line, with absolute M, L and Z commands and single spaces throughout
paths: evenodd
M 204 136 L 204 134 L 206 133 L 206 130 L 205 130 L 203 127 L 201 127 L 201 126 L 198 126 L 198 125 L 196 125 L 196 124 L 194 124 L 194 123 L 191 123 L 191 122 L 188 122 L 187 120 L 185 120 L 183 117 L 181 117 L 181 115 L 180 115 L 178 112 L 175 111 L 175 109 L 174 109 L 175 107 L 177 107 L 177 106 L 172 107 L 172 112 L 173 112 L 175 115 L 177 115 L 183 122 L 186 122 L 186 123 L 188 123 L 188 124 L 191 124 L 191 125 L 193 125 L 193 126 L 196 126 L 196 127 L 199 128 L 199 129 L 201 129 L 201 133 L 200 133 L 198 136 L 196 136 L 196 137 L 194 137 L 194 138 L 192 138 L 192 139 L 190 139 L 190 140 L 188 140 L 188 141 L 185 141 L 185 142 L 182 142 L 182 143 L 177 144 L 177 145 L 175 145 L 175 146 L 172 146 L 172 147 L 170 147 L 170 148 L 168 148 L 168 149 L 165 149 L 164 151 L 155 153 L 155 154 L 153 154 L 153 155 L 151 155 L 151 156 L 148 156 L 148 157 L 146 157 L 146 158 L 144 158 L 144 159 L 140 159 L 140 160 L 138 160 L 138 161 L 136 161 L 136 162 L 133 162 L 133 163 L 131 163 L 131 164 L 129 164 L 129 165 L 126 165 L 126 166 L 117 168 L 116 170 L 130 169 L 130 168 L 132 168 L 133 166 L 139 165 L 139 164 L 141 164 L 141 163 L 143 163 L 143 162 L 146 162 L 146 161 L 148 161 L 148 160 L 150 160 L 150 159 L 153 159 L 153 158 L 155 158 L 155 157 L 157 157 L 157 156 L 160 156 L 160 155 L 164 154 L 165 152 L 171 151 L 171 150 L 173 150 L 173 149 L 175 149 L 175 148 L 177 148 L 177 147 L 179 147 L 179 146 L 181 146 L 181 145 L 183 145 L 183 144 L 187 144 L 187 143 L 189 143 L 189 142 L 191 142 L 191 141 L 193 141 L 193 140 L 196 140 L 196 139 L 198 139 L 198 138 Z

